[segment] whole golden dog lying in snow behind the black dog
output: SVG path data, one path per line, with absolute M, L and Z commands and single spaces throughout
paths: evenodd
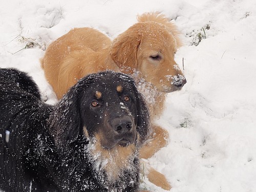
M 151 139 L 140 150 L 140 157 L 147 159 L 167 143 L 167 131 L 154 124 L 166 93 L 180 90 L 186 83 L 174 60 L 181 46 L 178 36 L 176 26 L 158 12 L 138 16 L 138 23 L 113 42 L 95 29 L 75 28 L 49 45 L 41 66 L 58 99 L 90 73 L 113 70 L 132 75 L 146 98 L 153 122 Z M 154 183 L 170 188 L 165 180 Z

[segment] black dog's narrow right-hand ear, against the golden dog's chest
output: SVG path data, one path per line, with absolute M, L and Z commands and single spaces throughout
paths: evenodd
M 140 143 L 143 143 L 150 132 L 150 114 L 144 101 L 144 96 L 139 92 L 136 95 L 138 111 L 137 132 L 140 135 Z

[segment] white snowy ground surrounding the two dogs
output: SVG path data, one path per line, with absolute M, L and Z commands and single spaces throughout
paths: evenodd
M 54 103 L 39 63 L 51 41 L 74 27 L 93 27 L 114 39 L 137 14 L 151 11 L 161 11 L 181 31 L 176 61 L 181 69 L 184 64 L 187 83 L 168 94 L 158 123 L 169 143 L 147 161 L 173 192 L 256 191 L 254 0 L 3 1 L 0 67 L 28 72 Z M 143 186 L 164 191 L 146 179 Z

